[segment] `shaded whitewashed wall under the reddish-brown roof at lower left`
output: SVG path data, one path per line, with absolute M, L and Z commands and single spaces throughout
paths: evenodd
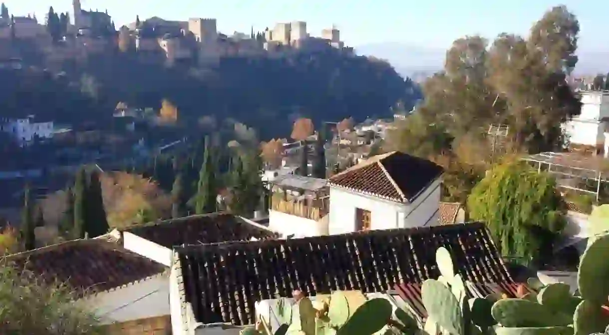
M 169 309 L 169 276 L 160 274 L 101 292 L 79 300 L 95 312 L 104 325 L 113 322 L 167 316 Z

